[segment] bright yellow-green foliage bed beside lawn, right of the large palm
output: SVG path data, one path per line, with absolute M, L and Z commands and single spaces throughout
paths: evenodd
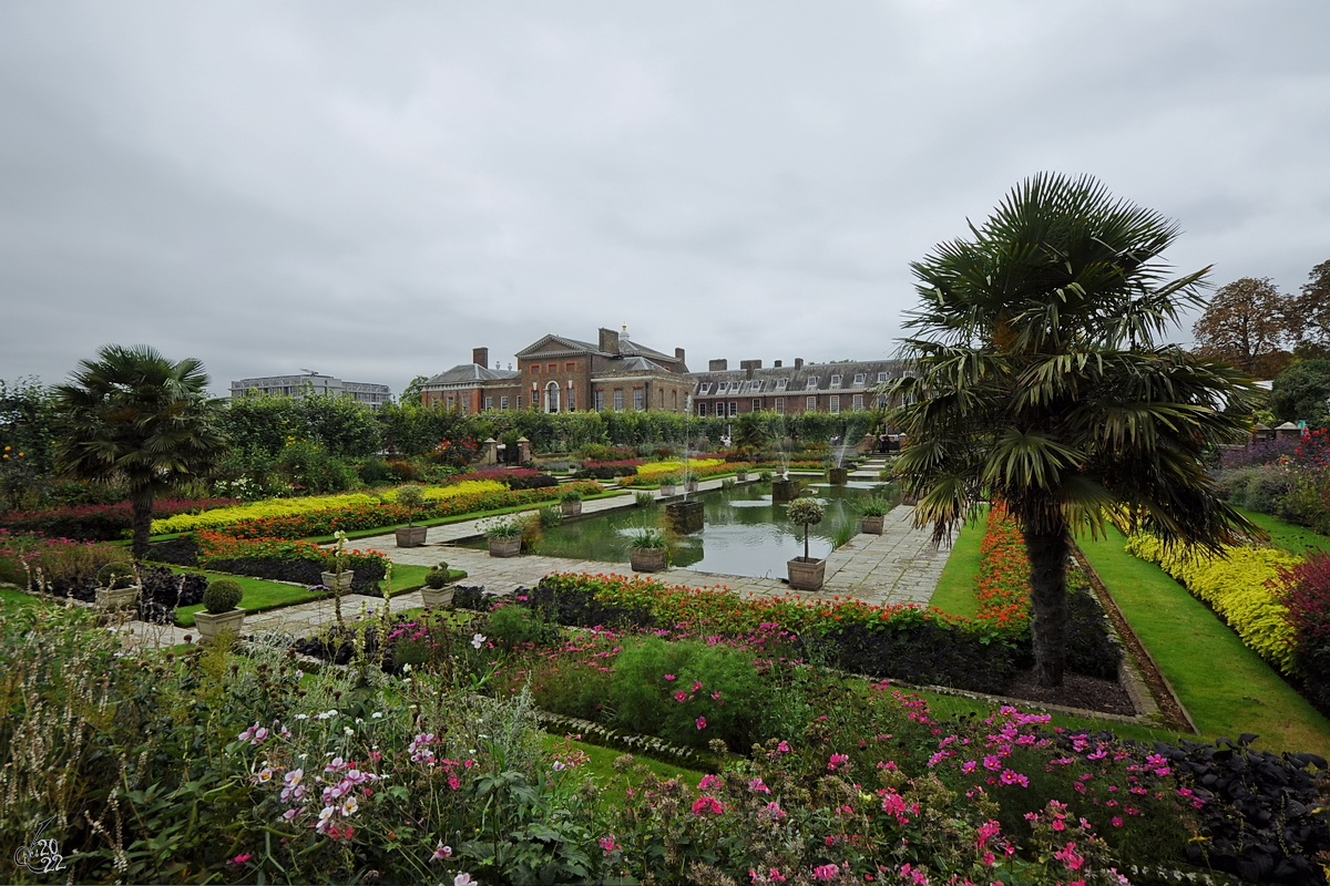
M 1293 672 L 1293 628 L 1283 603 L 1266 584 L 1279 569 L 1302 558 L 1274 547 L 1228 547 L 1224 555 L 1200 549 L 1165 549 L 1153 535 L 1133 535 L 1127 553 L 1152 563 L 1209 603 L 1250 650 L 1285 673 Z

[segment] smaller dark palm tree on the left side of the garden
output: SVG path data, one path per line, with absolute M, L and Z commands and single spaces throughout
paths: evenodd
M 206 477 L 222 453 L 207 373 L 146 345 L 106 345 L 56 388 L 56 464 L 65 476 L 129 487 L 133 551 L 148 551 L 153 501 Z

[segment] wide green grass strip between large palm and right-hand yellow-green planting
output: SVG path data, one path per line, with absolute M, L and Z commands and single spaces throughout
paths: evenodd
M 1271 751 L 1330 753 L 1330 721 L 1186 588 L 1123 550 L 1120 533 L 1079 543 L 1206 737 L 1254 732 Z

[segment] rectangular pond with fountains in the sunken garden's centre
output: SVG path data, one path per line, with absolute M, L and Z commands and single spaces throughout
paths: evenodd
M 802 484 L 801 495 L 822 501 L 826 517 L 809 527 L 809 554 L 826 557 L 841 526 L 858 527 L 854 502 L 876 493 L 892 505 L 899 502 L 895 487 L 855 482 L 833 486 Z M 743 484 L 730 490 L 692 494 L 705 509 L 704 526 L 688 535 L 670 534 L 670 565 L 702 573 L 779 578 L 786 561 L 803 555 L 803 529 L 785 518 L 785 505 L 771 502 L 771 484 Z M 656 527 L 668 530 L 664 505 L 628 507 L 585 519 L 564 522 L 541 530 L 531 553 L 544 557 L 628 563 L 632 533 Z M 469 547 L 483 549 L 484 541 Z

